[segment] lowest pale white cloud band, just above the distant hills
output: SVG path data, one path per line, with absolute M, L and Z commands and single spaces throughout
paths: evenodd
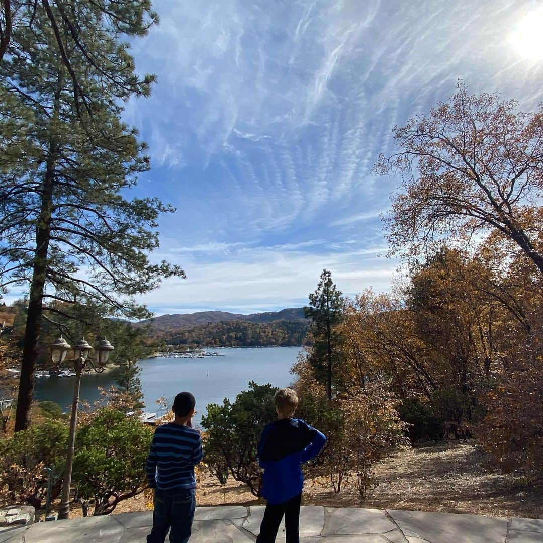
M 315 244 L 316 245 L 316 244 Z M 157 314 L 204 309 L 250 313 L 304 305 L 323 268 L 345 294 L 367 287 L 390 288 L 397 262 L 376 257 L 376 249 L 352 246 L 329 251 L 308 244 L 239 248 L 228 255 L 210 250 L 206 257 L 185 255 L 187 279 L 170 279 L 144 297 Z M 177 308 L 177 309 L 175 309 Z

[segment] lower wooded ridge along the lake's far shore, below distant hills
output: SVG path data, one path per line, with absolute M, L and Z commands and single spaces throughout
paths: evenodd
M 307 344 L 309 323 L 304 320 L 278 320 L 272 323 L 251 323 L 244 320 L 209 323 L 188 329 L 154 331 L 157 339 L 168 345 L 197 348 L 298 346 Z

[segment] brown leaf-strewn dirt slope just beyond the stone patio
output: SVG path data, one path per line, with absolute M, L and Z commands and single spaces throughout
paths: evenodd
M 543 519 L 543 481 L 526 488 L 513 475 L 503 475 L 473 446 L 460 441 L 425 444 L 398 451 L 375 466 L 377 487 L 365 500 L 355 489 L 334 494 L 311 479 L 306 481 L 304 505 L 407 509 L 488 516 Z M 264 503 L 244 484 L 230 481 L 221 487 L 200 473 L 197 502 L 204 505 Z M 152 508 L 148 495 L 121 502 L 115 513 Z M 72 516 L 80 516 L 74 510 Z

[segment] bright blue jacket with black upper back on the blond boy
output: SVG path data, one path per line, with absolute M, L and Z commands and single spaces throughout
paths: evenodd
M 271 504 L 283 503 L 304 488 L 301 464 L 317 456 L 326 436 L 301 419 L 268 424 L 258 444 L 258 464 L 264 469 L 262 496 Z

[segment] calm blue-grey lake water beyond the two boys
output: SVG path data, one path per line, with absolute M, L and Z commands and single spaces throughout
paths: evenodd
M 274 347 L 260 349 L 207 349 L 224 356 L 205 358 L 148 358 L 138 362 L 141 368 L 146 410 L 157 411 L 156 400 L 171 398 L 189 390 L 196 398 L 194 422 L 199 423 L 208 403 L 234 400 L 249 388 L 249 381 L 271 383 L 286 387 L 293 381 L 290 369 L 301 348 Z M 35 399 L 51 400 L 69 411 L 73 399 L 74 377 L 41 377 L 36 379 Z M 100 399 L 98 387 L 109 388 L 111 376 L 89 373 L 81 378 L 80 399 L 94 402 Z

